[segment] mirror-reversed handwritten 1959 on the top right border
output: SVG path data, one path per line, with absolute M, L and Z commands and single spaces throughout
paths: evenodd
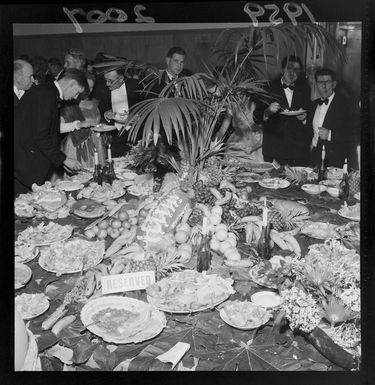
M 280 11 L 280 8 L 275 4 L 265 4 L 264 6 L 261 6 L 256 3 L 247 3 L 244 7 L 244 11 L 250 16 L 251 21 L 253 22 L 255 27 L 257 27 L 259 23 L 258 17 L 264 15 L 264 9 L 273 10 L 269 18 L 270 23 L 272 23 L 273 25 L 278 25 L 284 22 L 281 17 L 276 18 Z M 303 3 L 301 4 L 301 6 L 296 3 L 285 3 L 283 6 L 283 10 L 288 15 L 293 25 L 297 25 L 296 18 L 301 16 L 303 11 L 306 12 L 307 16 L 309 17 L 312 23 L 316 22 L 310 10 Z

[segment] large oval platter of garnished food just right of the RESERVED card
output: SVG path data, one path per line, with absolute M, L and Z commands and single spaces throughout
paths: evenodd
M 235 291 L 233 280 L 195 270 L 175 272 L 146 289 L 147 300 L 169 313 L 191 313 L 213 308 Z

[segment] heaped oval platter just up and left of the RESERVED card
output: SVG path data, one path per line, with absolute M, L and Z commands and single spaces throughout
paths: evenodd
M 76 238 L 43 248 L 39 265 L 56 274 L 77 273 L 90 269 L 104 256 L 104 241 L 86 241 Z

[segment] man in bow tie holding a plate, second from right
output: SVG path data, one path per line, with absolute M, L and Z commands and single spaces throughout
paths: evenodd
M 281 68 L 281 77 L 267 88 L 274 101 L 268 106 L 260 104 L 254 112 L 256 121 L 263 124 L 263 157 L 280 165 L 307 166 L 312 137 L 311 127 L 306 126 L 310 87 L 301 76 L 298 56 L 285 57 Z M 297 110 L 301 112 L 295 113 Z

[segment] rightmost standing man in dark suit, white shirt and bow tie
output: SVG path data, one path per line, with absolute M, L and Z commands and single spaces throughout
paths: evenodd
M 311 165 L 319 165 L 323 145 L 328 166 L 342 167 L 348 158 L 349 167 L 356 168 L 356 123 L 353 105 L 336 92 L 336 74 L 328 68 L 315 72 L 319 98 L 314 100 L 307 124 L 313 128 Z

